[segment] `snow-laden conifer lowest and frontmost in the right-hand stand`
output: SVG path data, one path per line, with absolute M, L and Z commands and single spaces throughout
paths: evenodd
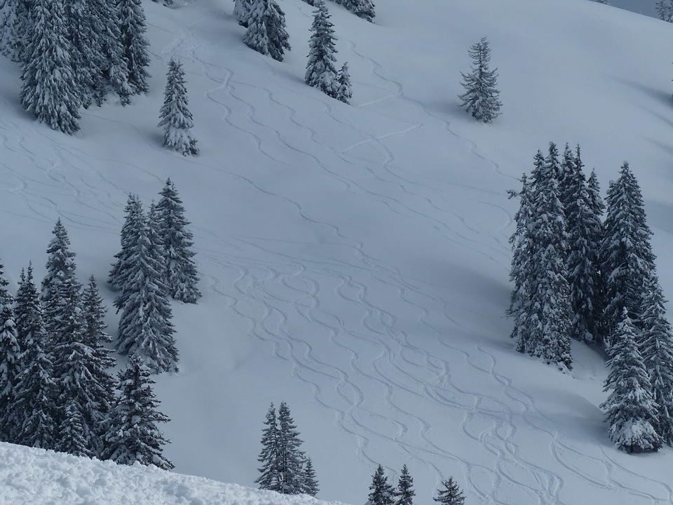
M 609 423 L 610 439 L 627 452 L 658 450 L 662 440 L 652 425 L 657 406 L 636 345 L 637 330 L 626 307 L 615 331 L 612 337 L 615 343 L 609 349 L 610 374 L 604 386 L 604 391 L 611 393 L 601 404 L 601 409 L 607 411 L 605 420 Z

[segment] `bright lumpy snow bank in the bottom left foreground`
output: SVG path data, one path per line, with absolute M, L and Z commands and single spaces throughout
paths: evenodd
M 0 504 L 318 505 L 327 502 L 147 466 L 123 466 L 0 443 Z

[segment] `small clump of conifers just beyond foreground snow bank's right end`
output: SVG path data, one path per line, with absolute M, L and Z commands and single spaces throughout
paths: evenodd
M 290 408 L 281 402 L 278 412 L 271 403 L 266 412 L 258 461 L 261 475 L 255 483 L 259 489 L 283 494 L 318 494 L 318 480 L 311 458 L 301 450 L 302 440 Z

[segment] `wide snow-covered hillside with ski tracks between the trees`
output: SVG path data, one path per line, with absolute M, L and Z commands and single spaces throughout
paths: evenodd
M 276 62 L 243 45 L 229 0 L 145 2 L 151 92 L 84 111 L 74 137 L 22 111 L 20 72 L 0 60 L 0 260 L 13 288 L 28 260 L 43 275 L 57 217 L 80 278 L 103 286 L 128 192 L 149 205 L 171 177 L 204 293 L 175 305 L 181 371 L 157 378 L 177 473 L 254 486 L 264 415 L 285 400 L 324 499 L 364 503 L 381 463 L 393 479 L 409 466 L 419 504 L 448 476 L 468 504 L 670 503 L 673 451 L 624 454 L 606 436 L 602 358 L 573 346 L 571 376 L 517 354 L 504 312 L 517 207 L 505 191 L 550 140 L 580 143 L 604 189 L 630 161 L 672 296 L 673 25 L 587 0 L 388 0 L 376 25 L 330 3 L 348 106 L 304 84 L 312 8 L 282 6 L 292 51 Z M 457 100 L 482 36 L 503 101 L 488 126 Z M 163 149 L 156 128 L 173 55 L 196 159 Z M 63 489 L 81 468 L 82 503 L 104 502 L 97 483 L 123 472 L 34 454 L 2 447 L 0 469 L 25 461 L 17 482 L 48 493 L 34 466 L 62 462 Z M 137 475 L 178 486 L 175 503 L 211 503 L 189 494 L 203 480 Z M 203 485 L 237 490 L 228 505 L 271 500 Z M 0 502 L 17 489 L 0 479 Z M 33 503 L 73 502 L 53 496 Z

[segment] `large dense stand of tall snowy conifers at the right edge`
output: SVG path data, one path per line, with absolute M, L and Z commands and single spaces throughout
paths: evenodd
M 673 443 L 673 331 L 637 180 L 625 162 L 606 208 L 580 148 L 555 144 L 522 177 L 510 238 L 508 314 L 517 351 L 571 369 L 571 338 L 605 346 L 611 439 L 632 452 Z

